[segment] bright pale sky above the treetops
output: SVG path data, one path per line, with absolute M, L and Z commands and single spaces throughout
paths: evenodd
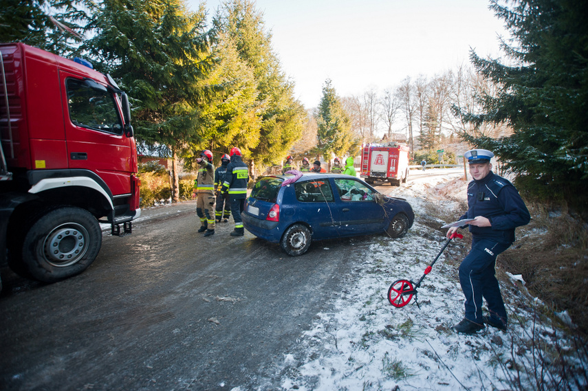
M 196 10 L 200 1 L 189 0 Z M 508 36 L 487 0 L 257 0 L 295 98 L 318 106 L 325 80 L 339 96 L 432 78 L 479 56 L 500 56 Z M 214 14 L 219 0 L 206 1 Z

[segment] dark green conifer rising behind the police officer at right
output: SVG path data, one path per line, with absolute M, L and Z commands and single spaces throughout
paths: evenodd
M 513 133 L 464 139 L 493 150 L 525 183 L 535 183 L 532 194 L 586 209 L 588 8 L 581 1 L 516 0 L 512 8 L 491 3 L 514 37 L 516 46 L 502 45 L 514 65 L 472 52 L 476 69 L 501 92 L 483 96 L 482 115 L 461 114 L 475 124 L 506 122 Z

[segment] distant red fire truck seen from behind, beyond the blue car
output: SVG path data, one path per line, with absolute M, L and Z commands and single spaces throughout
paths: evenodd
M 401 186 L 409 177 L 409 151 L 406 144 L 365 144 L 361 155 L 361 177 L 367 183 L 389 181 Z

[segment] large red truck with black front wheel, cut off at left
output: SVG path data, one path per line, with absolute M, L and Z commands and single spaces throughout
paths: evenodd
M 62 280 L 94 261 L 100 223 L 122 236 L 140 215 L 129 99 L 84 60 L 0 52 L 0 265 Z

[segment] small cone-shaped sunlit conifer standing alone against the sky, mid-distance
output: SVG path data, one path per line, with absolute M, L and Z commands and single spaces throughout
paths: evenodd
M 347 155 L 355 152 L 358 140 L 351 133 L 351 121 L 340 102 L 331 80 L 325 80 L 323 96 L 318 104 L 315 115 L 317 124 L 318 150 L 323 156 Z

